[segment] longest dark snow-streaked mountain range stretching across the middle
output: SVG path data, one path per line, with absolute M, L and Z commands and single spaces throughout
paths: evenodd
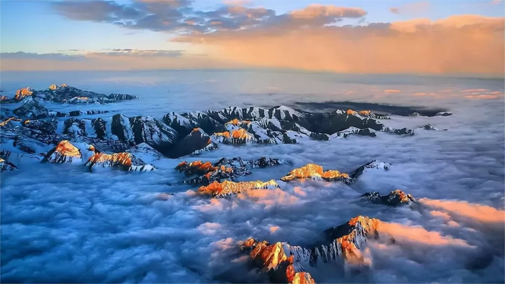
M 44 91 L 47 96 L 53 94 L 71 93 L 71 87 L 57 87 Z M 45 95 L 44 95 L 45 96 Z M 44 98 L 49 98 L 49 97 Z M 55 95 L 56 96 L 56 95 Z M 58 95 L 60 96 L 60 95 Z M 21 130 L 12 129 L 7 135 L 14 139 L 23 134 L 23 143 L 29 153 L 35 150 L 27 142 L 29 131 L 33 133 L 37 143 L 58 144 L 60 140 L 80 141 L 92 144 L 103 152 L 119 153 L 142 143 L 154 148 L 164 156 L 178 158 L 185 155 L 197 155 L 206 151 L 218 149 L 217 144 L 291 144 L 299 139 L 327 140 L 335 137 L 346 138 L 350 134 L 374 136 L 375 131 L 385 131 L 396 134 L 412 135 L 410 129 L 392 129 L 371 118 L 371 113 L 356 113 L 336 110 L 330 113 L 308 113 L 295 111 L 286 107 L 271 109 L 262 108 L 226 108 L 220 111 L 204 111 L 185 114 L 169 113 L 162 120 L 149 116 L 127 117 L 121 114 L 103 118 L 77 118 L 84 114 L 96 114 L 100 111 L 73 111 L 69 113 L 47 111 L 40 103 L 38 91 L 24 99 L 23 106 L 15 109 L 15 113 L 2 108 L 2 117 L 15 116 L 18 119 L 30 120 L 48 117 L 74 116 L 56 126 L 38 124 L 34 128 L 30 124 L 21 125 Z M 51 97 L 54 98 L 54 97 Z M 51 101 L 53 99 L 49 99 Z M 10 115 L 11 116 L 8 116 Z M 377 117 L 377 116 L 375 116 Z M 61 123 L 61 120 L 60 120 Z M 54 123 L 51 122 L 51 125 Z M 63 127 L 62 127 L 63 125 Z M 48 127 L 45 129 L 45 127 Z M 192 127 L 192 128 L 191 128 Z M 49 130 L 52 129 L 52 130 Z M 196 129 L 193 131 L 193 129 Z M 51 133 L 49 133 L 51 132 Z M 6 139 L 0 137 L 2 141 Z M 30 140 L 28 139 L 28 140 Z M 4 143 L 4 142 L 2 142 Z M 35 143 L 36 144 L 36 143 Z

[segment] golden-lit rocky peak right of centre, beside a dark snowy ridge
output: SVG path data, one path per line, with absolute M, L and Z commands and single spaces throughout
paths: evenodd
M 323 171 L 323 167 L 316 164 L 307 164 L 303 167 L 290 171 L 287 175 L 281 177 L 282 181 L 290 181 L 298 178 L 311 178 L 314 180 L 342 180 L 345 183 L 352 183 L 352 178 L 346 173 L 340 173 L 336 170 Z

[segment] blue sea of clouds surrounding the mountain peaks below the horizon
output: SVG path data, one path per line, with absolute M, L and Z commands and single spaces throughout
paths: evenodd
M 239 251 L 249 236 L 308 246 L 327 228 L 365 215 L 385 223 L 396 243 L 369 242 L 371 269 L 346 273 L 338 265 L 310 268 L 317 282 L 504 282 L 505 133 L 503 80 L 281 72 L 2 73 L 1 87 L 46 88 L 67 83 L 140 99 L 82 109 L 161 117 L 170 111 L 228 106 L 276 106 L 356 101 L 444 108 L 448 117 L 384 120 L 394 128 L 430 123 L 401 137 L 350 136 L 296 145 L 220 145 L 197 157 L 157 160 L 159 171 L 89 173 L 70 164 L 22 160 L 1 179 L 2 282 L 264 282 Z M 47 104 L 52 110 L 77 106 Z M 112 113 L 112 114 L 114 114 Z M 111 115 L 112 115 L 111 114 Z M 288 159 L 293 165 L 253 170 L 241 180 L 277 179 L 281 188 L 229 199 L 194 195 L 168 185 L 184 176 L 181 161 L 222 157 Z M 349 172 L 378 160 L 356 184 L 280 177 L 317 163 Z M 16 164 L 16 161 L 13 161 Z M 392 190 L 419 204 L 391 208 L 360 195 Z M 159 193 L 174 193 L 160 200 Z M 307 268 L 307 267 L 306 267 Z

